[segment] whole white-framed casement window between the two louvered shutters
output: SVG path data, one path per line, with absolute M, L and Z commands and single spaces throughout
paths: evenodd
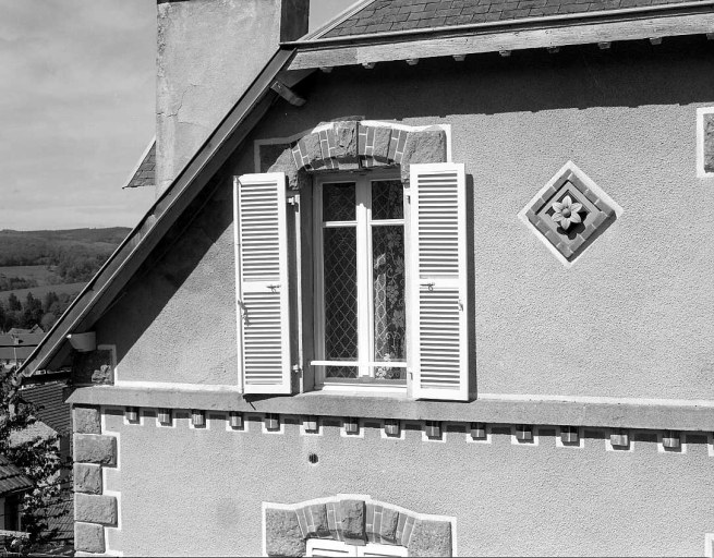
M 316 384 L 407 385 L 403 185 L 394 174 L 316 181 Z

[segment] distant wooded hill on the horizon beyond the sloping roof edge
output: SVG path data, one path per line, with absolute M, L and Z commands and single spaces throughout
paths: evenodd
M 0 268 L 51 266 L 57 282 L 87 281 L 129 234 L 125 227 L 0 231 Z M 1 271 L 0 271 L 1 272 Z

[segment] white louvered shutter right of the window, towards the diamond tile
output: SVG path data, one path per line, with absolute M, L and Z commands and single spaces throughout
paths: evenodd
M 469 398 L 465 172 L 412 165 L 412 368 L 417 399 Z

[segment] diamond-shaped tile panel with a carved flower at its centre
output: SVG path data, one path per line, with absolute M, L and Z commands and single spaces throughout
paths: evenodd
M 519 216 L 572 263 L 607 229 L 622 209 L 576 163 L 568 161 Z

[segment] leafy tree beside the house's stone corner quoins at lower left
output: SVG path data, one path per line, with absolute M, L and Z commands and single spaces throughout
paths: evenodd
M 22 553 L 36 553 L 57 533 L 48 529 L 51 509 L 61 501 L 62 463 L 59 437 L 13 440 L 13 434 L 25 430 L 37 422 L 37 407 L 22 400 L 15 368 L 0 366 L 0 454 L 5 456 L 29 477 L 35 488 L 23 496 L 23 531 L 28 539 Z

